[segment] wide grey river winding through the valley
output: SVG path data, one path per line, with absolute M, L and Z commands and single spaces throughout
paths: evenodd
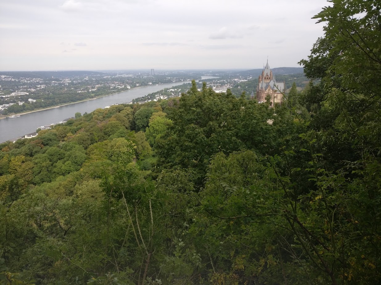
M 215 78 L 213 76 L 202 76 L 202 79 Z M 59 106 L 53 109 L 41 110 L 29 114 L 21 115 L 21 117 L 14 119 L 1 119 L 0 120 L 0 143 L 33 133 L 41 126 L 50 125 L 51 123 L 58 123 L 64 119 L 74 117 L 76 112 L 83 114 L 84 112 L 92 112 L 98 108 L 104 108 L 112 104 L 121 104 L 131 102 L 135 98 L 143 97 L 149 93 L 153 93 L 164 88 L 179 86 L 191 81 L 183 81 L 168 84 L 159 84 L 153 86 L 144 86 L 140 88 L 133 88 L 131 90 L 112 94 L 105 97 L 96 98 L 78 102 L 66 106 Z

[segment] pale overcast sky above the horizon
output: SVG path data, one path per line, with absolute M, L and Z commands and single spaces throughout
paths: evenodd
M 0 0 L 0 70 L 298 67 L 326 0 Z

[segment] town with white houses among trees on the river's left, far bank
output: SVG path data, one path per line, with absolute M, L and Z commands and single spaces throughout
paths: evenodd
M 0 116 L 72 103 L 131 88 L 201 78 L 197 74 L 144 71 L 8 71 L 0 73 Z

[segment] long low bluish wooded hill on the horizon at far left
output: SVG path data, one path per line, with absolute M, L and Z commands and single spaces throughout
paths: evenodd
M 64 70 L 64 71 L 0 71 L 0 75 L 28 78 L 66 78 L 74 76 L 103 75 L 98 71 Z

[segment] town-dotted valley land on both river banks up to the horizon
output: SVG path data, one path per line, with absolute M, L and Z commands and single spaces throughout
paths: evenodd
M 232 93 L 239 97 L 245 92 L 250 98 L 258 84 L 261 69 L 254 70 L 125 70 L 125 71 L 8 71 L 0 72 L 0 117 L 59 106 L 82 100 L 127 91 L 131 88 L 202 79 L 216 93 Z M 301 68 L 275 68 L 277 80 L 287 88 L 296 81 L 306 84 Z M 163 89 L 136 98 L 132 103 L 145 103 L 179 97 L 191 84 Z M 128 103 L 128 102 L 125 102 Z

